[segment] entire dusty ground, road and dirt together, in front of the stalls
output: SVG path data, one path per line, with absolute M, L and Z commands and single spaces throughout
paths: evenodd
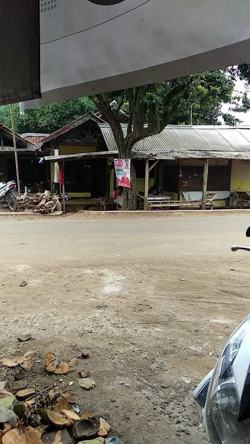
M 65 387 L 109 419 L 111 436 L 205 443 L 192 390 L 250 311 L 250 256 L 230 252 L 249 222 L 240 212 L 1 217 L 0 357 L 39 349 L 43 372 L 46 352 L 88 352 L 69 376 L 86 368 L 96 387 Z M 19 343 L 24 332 L 33 339 Z M 0 368 L 0 380 L 13 375 Z

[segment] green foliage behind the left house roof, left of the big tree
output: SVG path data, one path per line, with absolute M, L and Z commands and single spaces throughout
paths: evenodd
M 87 112 L 96 112 L 97 108 L 89 97 L 70 101 L 51 103 L 29 109 L 20 114 L 19 105 L 14 105 L 15 130 L 22 133 L 53 133 L 62 126 L 78 119 Z M 0 106 L 0 123 L 11 127 L 9 106 Z

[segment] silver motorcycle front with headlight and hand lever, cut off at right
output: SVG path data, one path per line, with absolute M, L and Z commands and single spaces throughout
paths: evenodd
M 250 247 L 232 245 L 231 250 Z M 209 443 L 250 444 L 250 315 L 232 333 L 193 396 Z

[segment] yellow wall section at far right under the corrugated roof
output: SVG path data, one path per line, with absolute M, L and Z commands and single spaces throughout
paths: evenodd
M 250 161 L 232 161 L 230 191 L 250 191 Z

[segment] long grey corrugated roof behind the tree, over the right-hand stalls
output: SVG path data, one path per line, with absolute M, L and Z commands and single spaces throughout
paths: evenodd
M 117 150 L 109 124 L 99 126 L 108 149 Z M 122 127 L 126 135 L 126 124 Z M 250 127 L 167 125 L 161 133 L 137 142 L 133 152 L 142 157 L 154 154 L 155 159 L 156 154 L 161 159 L 250 159 Z

